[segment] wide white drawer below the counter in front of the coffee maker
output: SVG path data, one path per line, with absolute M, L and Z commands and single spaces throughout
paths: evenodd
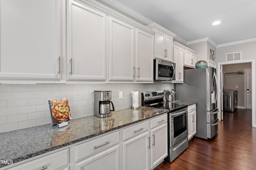
M 75 160 L 79 160 L 119 142 L 119 131 L 75 146 Z

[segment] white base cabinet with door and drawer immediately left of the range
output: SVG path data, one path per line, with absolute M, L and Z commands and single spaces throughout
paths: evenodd
M 150 130 L 150 169 L 158 166 L 168 155 L 167 114 L 155 119 L 157 119 L 158 126 Z

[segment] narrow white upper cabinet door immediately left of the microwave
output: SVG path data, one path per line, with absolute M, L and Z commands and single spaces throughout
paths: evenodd
M 153 81 L 154 34 L 136 29 L 136 81 Z

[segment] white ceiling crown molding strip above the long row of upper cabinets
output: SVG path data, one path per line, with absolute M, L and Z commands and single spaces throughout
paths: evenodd
M 141 14 L 139 14 L 138 12 L 135 12 L 134 10 L 128 8 L 127 6 L 124 6 L 123 4 L 121 4 L 120 2 L 118 2 L 116 0 L 102 0 L 102 1 L 110 4 L 111 6 L 113 6 L 115 8 L 118 8 L 122 12 L 125 12 L 126 14 L 129 14 L 130 16 L 144 22 L 146 25 L 153 23 L 148 18 L 142 16 Z

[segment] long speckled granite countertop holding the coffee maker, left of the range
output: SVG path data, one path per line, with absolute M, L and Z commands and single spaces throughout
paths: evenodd
M 51 124 L 0 133 L 0 160 L 19 162 L 34 156 L 126 127 L 169 110 L 141 107 L 112 112 L 111 117 L 82 117 L 68 121 L 68 126 L 58 128 Z M 0 167 L 6 166 L 0 164 Z

